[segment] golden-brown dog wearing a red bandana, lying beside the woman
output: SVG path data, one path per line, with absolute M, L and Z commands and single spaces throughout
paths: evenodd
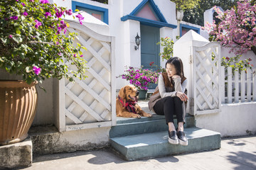
M 122 87 L 117 98 L 116 111 L 118 117 L 124 118 L 141 118 L 152 117 L 150 113 L 142 111 L 142 108 L 137 104 L 139 91 L 135 86 L 127 85 Z

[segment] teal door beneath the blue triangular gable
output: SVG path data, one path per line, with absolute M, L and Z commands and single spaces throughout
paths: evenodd
M 159 51 L 160 47 L 159 45 L 156 45 L 157 42 L 159 42 L 159 28 L 151 27 L 151 26 L 140 26 L 141 29 L 141 50 L 142 50 L 142 58 L 141 62 L 144 66 L 144 69 L 159 69 L 157 66 L 160 66 L 160 57 L 159 57 Z M 151 62 L 154 62 L 154 67 L 150 66 L 149 64 Z M 154 89 L 156 85 L 149 86 L 149 89 Z

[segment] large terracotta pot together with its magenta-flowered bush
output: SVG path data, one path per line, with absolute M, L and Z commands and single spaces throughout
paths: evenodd
M 66 33 L 65 15 L 82 22 L 80 13 L 49 4 L 48 0 L 0 1 L 0 69 L 23 77 L 22 81 L 0 81 L 0 145 L 26 138 L 36 111 L 37 83 L 50 77 L 70 81 L 85 78 L 85 47 L 73 46 L 76 34 Z

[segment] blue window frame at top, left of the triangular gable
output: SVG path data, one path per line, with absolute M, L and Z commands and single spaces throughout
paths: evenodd
M 97 13 L 102 15 L 102 21 L 104 23 L 108 24 L 108 9 L 107 8 L 101 8 L 99 6 L 92 6 L 89 4 L 83 4 L 77 1 L 72 1 L 72 11 L 75 11 L 75 9 L 79 9 L 80 11 L 85 11 L 87 13 Z

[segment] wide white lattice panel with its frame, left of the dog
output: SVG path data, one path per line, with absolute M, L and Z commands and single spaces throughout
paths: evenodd
M 79 33 L 76 42 L 87 48 L 83 51 L 87 78 L 75 79 L 75 83 L 65 79 L 60 83 L 64 97 L 60 103 L 60 121 L 64 122 L 60 123 L 60 130 L 112 126 L 115 124 L 114 39 L 77 23 L 72 26 L 68 31 Z

